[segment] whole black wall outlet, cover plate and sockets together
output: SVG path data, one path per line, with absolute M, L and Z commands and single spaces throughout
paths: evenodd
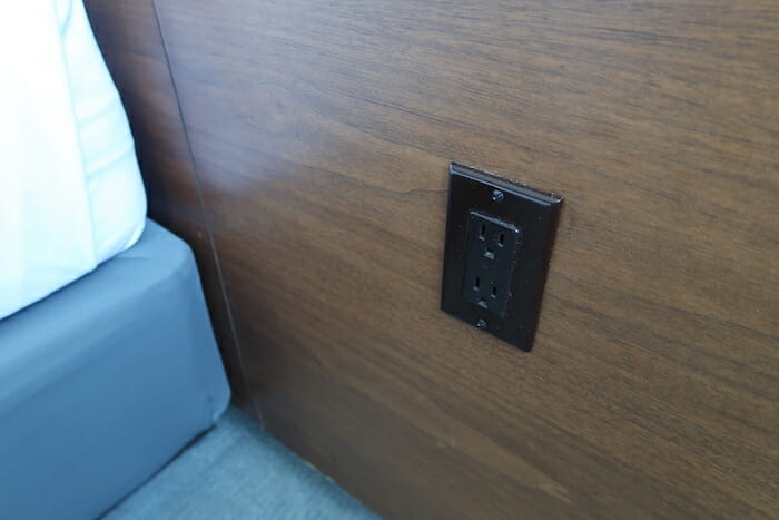
M 529 351 L 561 203 L 453 163 L 441 308 Z

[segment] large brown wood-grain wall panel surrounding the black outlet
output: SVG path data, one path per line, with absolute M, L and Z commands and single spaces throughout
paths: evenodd
M 156 0 L 267 426 L 391 518 L 779 516 L 779 3 Z M 566 197 L 526 354 L 446 171 Z

